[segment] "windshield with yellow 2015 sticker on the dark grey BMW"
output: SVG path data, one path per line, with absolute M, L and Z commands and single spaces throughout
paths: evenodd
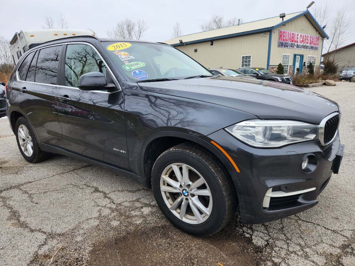
M 105 42 L 103 45 L 126 77 L 133 82 L 213 76 L 206 68 L 171 46 L 134 41 Z

